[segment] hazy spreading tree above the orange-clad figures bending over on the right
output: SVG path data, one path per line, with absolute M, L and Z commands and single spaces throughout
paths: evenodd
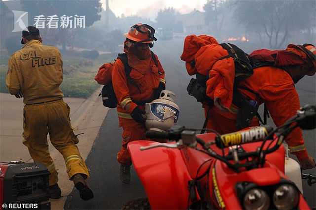
M 315 27 L 315 0 L 238 0 L 236 17 L 250 32 L 264 34 L 271 48 L 281 48 L 295 31 Z

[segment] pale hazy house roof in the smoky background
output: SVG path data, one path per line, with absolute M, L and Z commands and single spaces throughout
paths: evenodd
M 184 27 L 205 25 L 205 12 L 193 10 L 188 14 L 176 16 L 177 21 L 181 21 Z

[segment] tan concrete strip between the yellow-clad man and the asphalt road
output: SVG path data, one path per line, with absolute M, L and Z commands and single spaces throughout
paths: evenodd
M 109 108 L 103 106 L 102 99 L 98 97 L 100 91 L 101 86 L 71 115 L 72 119 L 76 119 L 71 122 L 75 134 L 84 133 L 78 136 L 79 143 L 77 144 L 84 161 L 91 151 L 94 140 L 109 110 Z M 68 179 L 63 156 L 54 148 L 51 151 L 51 157 L 58 172 L 58 185 L 62 190 L 60 199 L 50 199 L 51 209 L 61 210 L 64 209 L 67 196 L 72 192 L 74 185 Z M 89 168 L 89 166 L 87 167 Z

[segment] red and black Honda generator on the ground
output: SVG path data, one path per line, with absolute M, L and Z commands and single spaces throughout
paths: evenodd
M 50 210 L 48 176 L 41 163 L 0 163 L 0 210 Z

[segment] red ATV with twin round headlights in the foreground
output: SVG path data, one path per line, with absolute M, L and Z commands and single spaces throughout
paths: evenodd
M 284 174 L 282 143 L 298 126 L 316 127 L 315 106 L 302 108 L 276 129 L 253 127 L 225 135 L 213 130 L 196 135 L 196 129 L 181 126 L 148 131 L 148 138 L 175 142 L 128 144 L 148 199 L 127 202 L 123 209 L 310 209 Z

